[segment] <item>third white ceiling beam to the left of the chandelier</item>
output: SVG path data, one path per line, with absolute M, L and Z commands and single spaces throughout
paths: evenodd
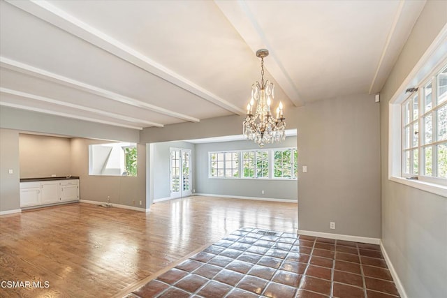
M 115 118 L 115 119 L 120 119 L 122 121 L 128 121 L 128 122 L 132 122 L 135 124 L 145 124 L 147 126 L 157 126 L 157 127 L 163 127 L 163 124 L 159 124 L 159 123 L 155 123 L 152 121 L 146 121 L 146 120 L 142 120 L 142 119 L 136 119 L 133 117 L 126 117 L 124 115 L 121 114 L 116 114 L 116 113 L 112 113 L 112 112 L 106 112 L 103 110 L 98 110 L 95 109 L 93 107 L 86 107 L 84 105 L 76 105 L 74 103 L 66 103 L 64 101 L 60 101 L 60 100 L 56 100 L 56 99 L 52 99 L 52 98 L 47 98 L 44 96 L 38 96 L 36 94 L 29 94 L 29 93 L 25 93 L 22 91 L 17 91 L 17 90 L 13 90 L 13 89 L 8 89 L 8 88 L 3 88 L 0 87 L 0 93 L 3 94 L 10 94 L 13 96 L 19 96 L 22 98 L 28 98 L 28 99 L 32 99 L 32 100 L 38 100 L 41 101 L 43 103 L 51 103 L 53 105 L 59 105 L 59 106 L 63 106 L 63 107 L 71 107 L 73 109 L 76 110 L 82 110 L 82 111 L 86 111 L 86 112 L 91 112 L 94 114 L 99 114 L 105 117 L 111 117 L 111 118 Z

